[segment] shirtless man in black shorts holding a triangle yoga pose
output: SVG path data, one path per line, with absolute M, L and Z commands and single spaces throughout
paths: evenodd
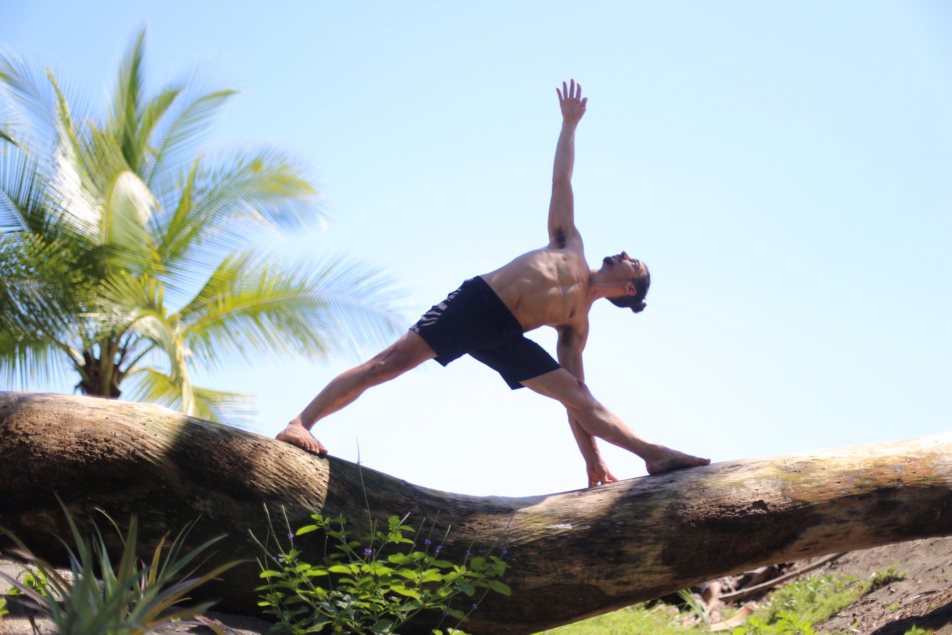
M 585 457 L 589 487 L 618 480 L 605 465 L 595 437 L 643 458 L 649 474 L 710 463 L 646 441 L 596 401 L 585 386 L 582 350 L 592 303 L 608 298 L 616 306 L 638 313 L 645 308 L 650 277 L 645 265 L 625 251 L 605 257 L 601 268 L 588 268 L 573 218 L 571 186 L 575 128 L 588 99 L 582 99 L 582 86 L 575 80 L 568 86 L 563 82 L 556 92 L 563 121 L 552 172 L 548 245 L 467 280 L 392 346 L 330 382 L 278 434 L 280 441 L 323 456 L 327 447 L 309 432 L 316 422 L 347 406 L 368 387 L 387 382 L 428 359 L 446 366 L 468 353 L 498 371 L 509 387 L 529 387 L 565 406 Z M 524 335 L 538 327 L 559 332 L 558 363 Z

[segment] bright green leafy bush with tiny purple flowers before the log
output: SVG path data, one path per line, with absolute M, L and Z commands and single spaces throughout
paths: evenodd
M 454 565 L 441 556 L 442 542 L 433 544 L 433 526 L 423 537 L 423 524 L 414 530 L 404 525 L 406 518 L 391 516 L 386 531 L 371 522 L 369 535 L 354 540 L 344 518 L 315 513 L 311 519 L 313 524 L 291 531 L 286 516 L 286 547 L 271 526 L 274 553 L 258 541 L 268 566 L 262 563 L 261 577 L 267 583 L 256 590 L 262 592 L 259 605 L 279 620 L 274 630 L 284 627 L 303 635 L 327 628 L 351 635 L 388 635 L 425 609 L 439 610 L 443 619 L 462 623 L 489 590 L 511 592 L 495 579 L 508 567 L 501 558 L 473 556 L 467 549 L 463 563 Z M 310 564 L 294 539 L 318 530 L 325 537 L 324 556 L 320 563 Z M 420 544 L 407 535 L 415 535 Z M 476 598 L 478 591 L 481 595 Z M 451 605 L 460 595 L 468 598 L 466 608 Z

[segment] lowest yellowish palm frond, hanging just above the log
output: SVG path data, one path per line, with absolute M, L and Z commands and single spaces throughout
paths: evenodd
M 156 367 L 136 368 L 129 375 L 126 395 L 134 401 L 149 402 L 182 411 L 182 390 L 175 379 Z M 193 387 L 194 414 L 208 421 L 258 430 L 254 399 L 236 392 Z

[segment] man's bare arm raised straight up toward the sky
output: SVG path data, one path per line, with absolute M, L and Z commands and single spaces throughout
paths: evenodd
M 572 198 L 572 166 L 575 163 L 575 128 L 585 114 L 582 85 L 573 79 L 567 86 L 562 83 L 559 93 L 559 108 L 562 109 L 562 132 L 555 148 L 555 166 L 552 169 L 552 201 L 548 206 L 549 247 L 565 248 L 565 244 L 578 236 L 575 228 L 574 201 Z

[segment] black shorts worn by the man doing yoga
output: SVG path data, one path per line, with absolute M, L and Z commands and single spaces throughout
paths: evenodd
M 523 334 L 523 326 L 483 278 L 470 278 L 430 308 L 410 327 L 436 353 L 436 361 L 446 366 L 469 353 L 493 368 L 510 388 L 520 382 L 545 375 L 559 363 Z

